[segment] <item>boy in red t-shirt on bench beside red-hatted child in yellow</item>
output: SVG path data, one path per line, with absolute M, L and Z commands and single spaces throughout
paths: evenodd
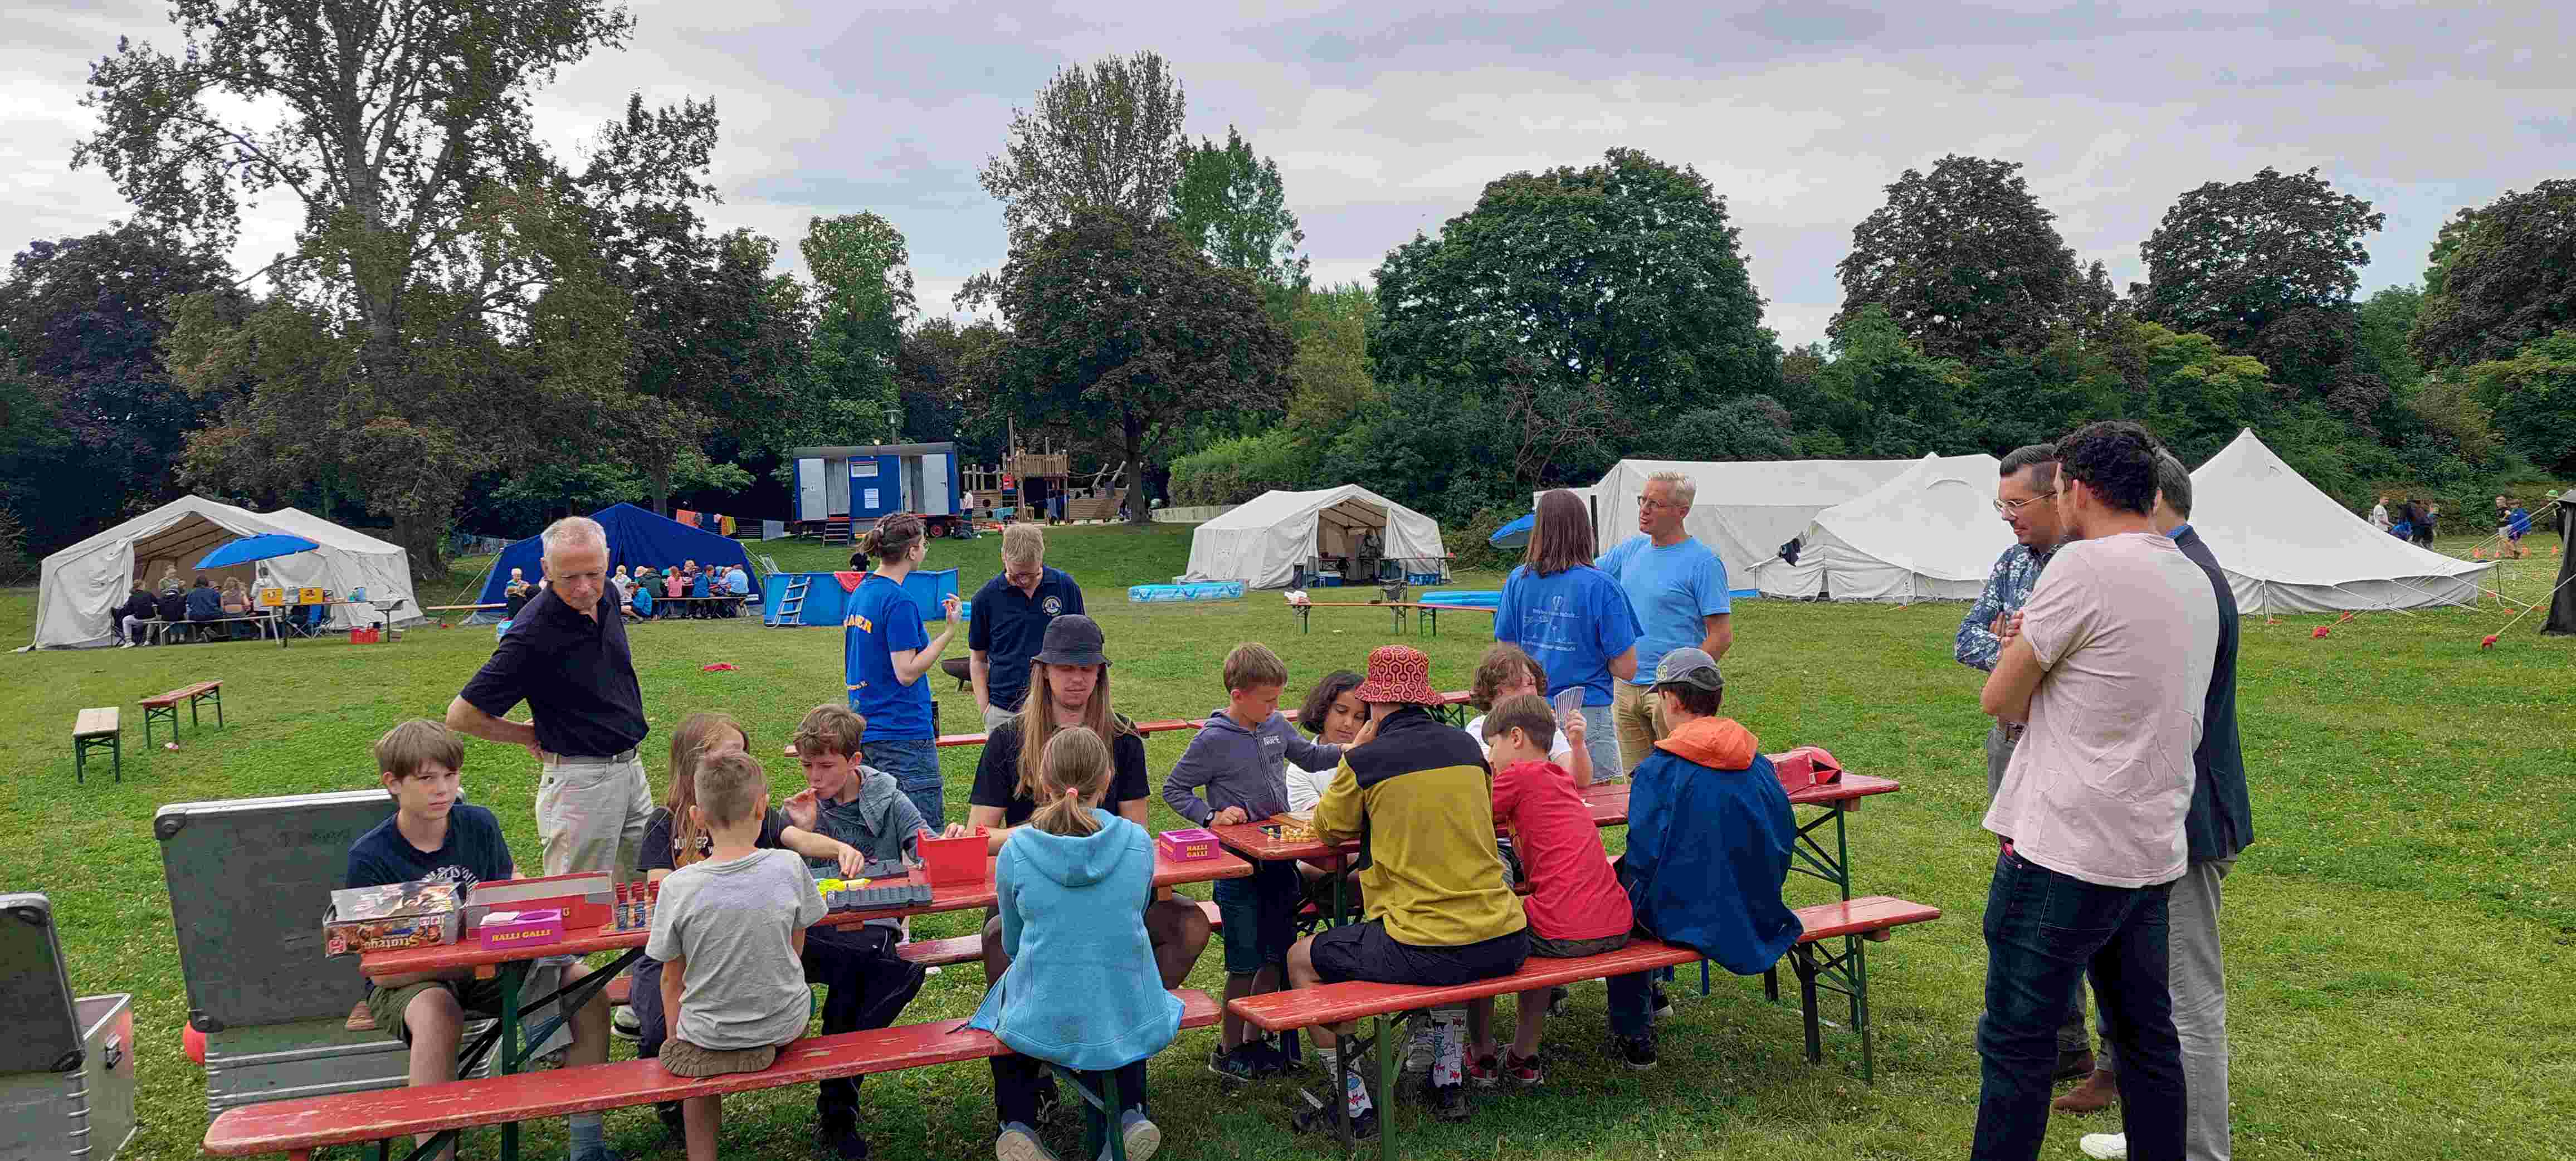
M 1484 744 L 1494 765 L 1494 821 L 1510 826 L 1512 847 L 1530 878 L 1520 901 L 1530 916 L 1530 955 L 1571 960 L 1628 947 L 1636 914 L 1628 891 L 1610 870 L 1592 808 L 1564 767 L 1548 762 L 1556 744 L 1556 713 L 1546 698 L 1517 695 L 1494 703 L 1484 716 Z M 1468 1004 L 1468 1035 L 1476 1040 L 1466 1068 L 1468 1084 L 1492 1089 L 1504 1076 L 1533 1086 L 1538 1068 L 1538 1030 L 1548 1019 L 1548 989 L 1522 991 L 1520 1027 L 1512 1053 L 1494 1058 L 1494 1001 Z

